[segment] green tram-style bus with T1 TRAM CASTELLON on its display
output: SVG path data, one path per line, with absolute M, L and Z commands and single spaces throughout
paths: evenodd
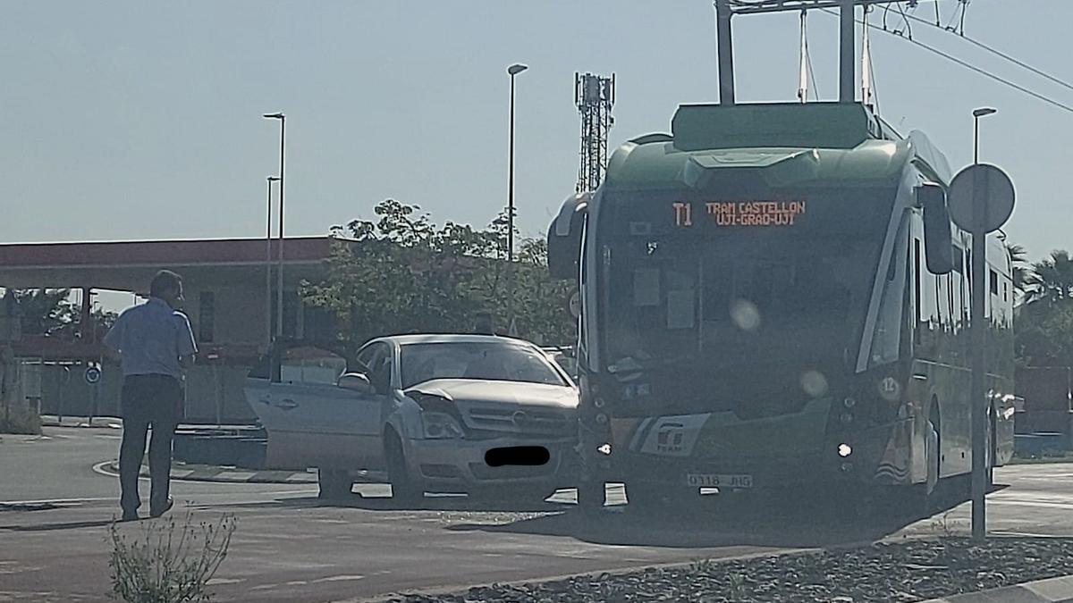
M 970 473 L 970 236 L 945 158 L 861 104 L 682 105 L 548 233 L 582 300 L 583 499 Z M 987 241 L 988 467 L 1013 455 L 1013 283 Z M 990 471 L 988 471 L 990 474 Z M 884 495 L 884 496 L 885 496 Z

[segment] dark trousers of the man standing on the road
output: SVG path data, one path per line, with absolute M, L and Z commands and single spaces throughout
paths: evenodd
M 122 488 L 119 505 L 123 515 L 134 515 L 142 505 L 137 479 L 149 426 L 152 426 L 149 513 L 156 515 L 165 510 L 172 472 L 172 438 L 181 408 L 182 391 L 174 377 L 132 374 L 123 379 L 123 441 L 119 447 L 119 485 Z

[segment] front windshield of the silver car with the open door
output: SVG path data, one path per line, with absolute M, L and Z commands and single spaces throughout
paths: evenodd
M 567 385 L 543 353 L 508 342 L 411 343 L 402 345 L 400 368 L 403 388 L 433 379 Z

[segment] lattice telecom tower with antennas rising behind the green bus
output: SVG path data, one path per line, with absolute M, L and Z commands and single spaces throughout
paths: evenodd
M 574 74 L 574 103 L 582 114 L 582 166 L 577 171 L 577 192 L 594 191 L 607 168 L 607 133 L 615 123 L 615 74 L 611 77 Z

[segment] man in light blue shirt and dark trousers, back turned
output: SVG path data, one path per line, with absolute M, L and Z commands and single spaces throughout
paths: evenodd
M 137 477 L 149 442 L 149 515 L 160 517 L 174 504 L 167 490 L 172 472 L 172 438 L 182 416 L 182 369 L 197 352 L 182 307 L 182 278 L 161 270 L 149 285 L 149 300 L 119 315 L 104 344 L 119 353 L 123 371 L 123 440 L 119 447 L 119 485 L 123 521 L 138 518 Z

